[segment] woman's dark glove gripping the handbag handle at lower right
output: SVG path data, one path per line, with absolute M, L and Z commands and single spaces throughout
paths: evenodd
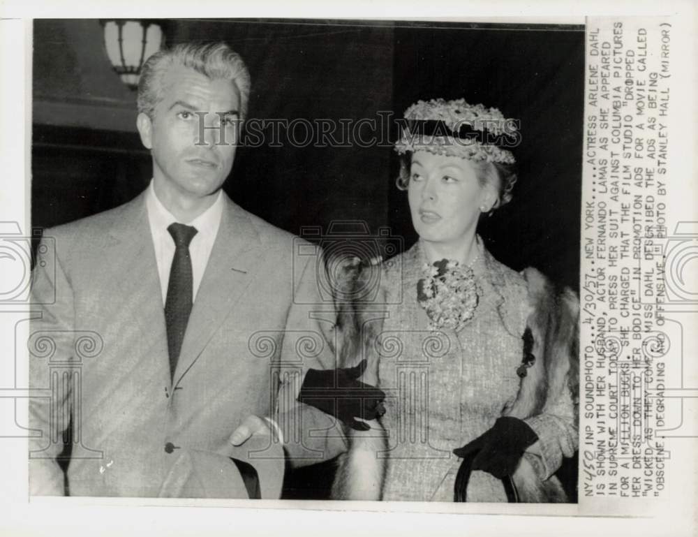
M 464 501 L 466 497 L 470 471 L 486 471 L 503 480 L 514 473 L 523 452 L 537 439 L 538 435 L 526 422 L 503 416 L 475 440 L 454 449 L 453 453 L 463 458 L 456 476 L 456 501 Z

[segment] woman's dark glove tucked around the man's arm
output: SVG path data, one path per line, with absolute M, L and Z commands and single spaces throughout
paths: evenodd
M 346 369 L 308 369 L 297 400 L 333 415 L 352 429 L 368 431 L 371 427 L 355 418 L 375 420 L 383 415 L 385 393 L 357 380 L 365 369 L 365 359 Z

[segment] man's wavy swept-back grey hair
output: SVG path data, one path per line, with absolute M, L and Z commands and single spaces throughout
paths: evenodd
M 138 112 L 151 119 L 163 99 L 165 73 L 172 66 L 184 66 L 211 80 L 230 80 L 240 92 L 240 119 L 247 115 L 250 73 L 237 52 L 225 43 L 181 43 L 160 50 L 145 62 L 138 82 Z

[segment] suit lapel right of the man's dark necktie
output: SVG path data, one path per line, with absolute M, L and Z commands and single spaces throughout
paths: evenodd
M 182 342 L 176 386 L 200 356 L 230 309 L 253 280 L 262 253 L 260 237 L 247 214 L 223 194 L 225 208 Z

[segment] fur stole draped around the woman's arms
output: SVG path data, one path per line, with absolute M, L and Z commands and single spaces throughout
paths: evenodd
M 355 262 L 345 265 L 341 291 L 351 297 L 351 290 L 365 289 L 369 281 L 376 281 L 378 266 L 364 269 Z M 528 418 L 547 411 L 547 405 L 569 385 L 572 398 L 579 399 L 579 300 L 565 288 L 556 292 L 551 282 L 535 268 L 523 271 L 528 289 L 528 317 L 526 325 L 533 334 L 533 366 L 526 369 L 514 404 L 503 412 L 515 418 Z M 376 338 L 380 336 L 382 316 L 371 311 L 370 304 L 344 300 L 337 304 L 336 353 L 339 367 L 351 367 L 362 358 L 368 366 L 362 381 L 377 385 L 378 356 Z M 523 351 L 523 342 L 522 342 Z M 522 353 L 523 354 L 523 353 Z M 387 433 L 380 420 L 369 422 L 369 431 L 348 429 L 349 449 L 338 459 L 339 466 L 332 486 L 333 499 L 380 500 L 385 480 L 385 457 L 378 452 L 387 450 Z M 457 447 L 457 446 L 454 446 Z M 521 462 L 512 476 L 521 502 L 565 502 L 567 496 L 555 476 L 542 481 L 528 457 Z

